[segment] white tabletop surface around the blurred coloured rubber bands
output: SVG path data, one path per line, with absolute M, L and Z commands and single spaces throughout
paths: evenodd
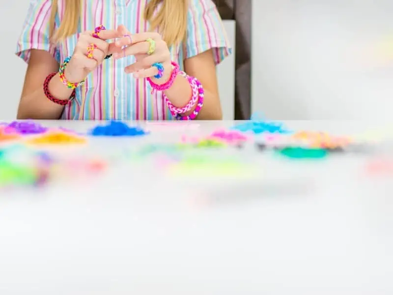
M 44 123 L 79 131 L 95 124 Z M 104 156 L 126 146 L 178 142 L 181 134 L 208 134 L 233 122 L 194 124 L 199 127 L 187 131 L 149 125 L 148 137 L 93 139 L 89 149 L 68 153 Z M 386 128 L 286 125 L 340 134 Z M 256 153 L 252 145 L 216 153 L 242 153 L 259 174 L 186 181 L 165 177 L 154 161 L 124 160 L 86 185 L 1 195 L 0 294 L 393 293 L 393 181 L 364 176 L 371 155 L 298 162 Z

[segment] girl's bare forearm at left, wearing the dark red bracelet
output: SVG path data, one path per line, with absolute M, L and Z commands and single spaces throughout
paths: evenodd
M 60 100 L 69 99 L 72 89 L 65 87 L 58 75 L 52 78 L 48 85 L 49 92 Z M 63 112 L 64 106 L 56 104 L 48 99 L 43 86 L 35 91 L 22 96 L 18 109 L 18 119 L 58 119 Z

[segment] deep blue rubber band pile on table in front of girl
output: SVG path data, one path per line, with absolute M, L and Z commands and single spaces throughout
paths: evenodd
M 108 125 L 97 126 L 91 130 L 93 136 L 141 136 L 147 133 L 138 127 L 130 127 L 120 121 L 111 121 Z

